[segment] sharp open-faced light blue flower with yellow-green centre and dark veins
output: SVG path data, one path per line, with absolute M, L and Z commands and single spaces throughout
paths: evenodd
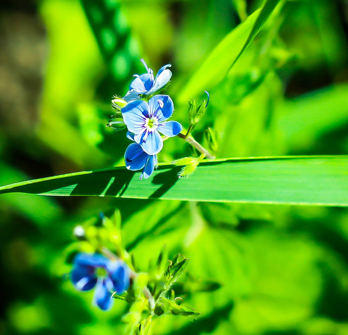
M 149 103 L 143 100 L 129 102 L 121 109 L 123 122 L 134 134 L 134 141 L 148 155 L 156 155 L 163 148 L 160 135 L 176 136 L 182 126 L 177 121 L 167 121 L 172 116 L 174 104 L 169 95 L 155 95 Z

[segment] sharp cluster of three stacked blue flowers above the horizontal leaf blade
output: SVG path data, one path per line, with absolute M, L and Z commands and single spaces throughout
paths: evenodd
M 129 170 L 142 170 L 142 177 L 148 178 L 157 165 L 157 154 L 163 148 L 164 135 L 174 137 L 182 130 L 177 121 L 167 121 L 173 114 L 174 103 L 169 95 L 156 94 L 170 81 L 170 64 L 162 67 L 156 78 L 151 68 L 141 60 L 147 73 L 135 75 L 126 95 L 113 100 L 113 106 L 119 108 L 123 123 L 128 129 L 127 137 L 134 143 L 126 149 L 124 159 Z M 117 102 L 115 102 L 117 101 Z M 116 124 L 120 121 L 110 121 Z

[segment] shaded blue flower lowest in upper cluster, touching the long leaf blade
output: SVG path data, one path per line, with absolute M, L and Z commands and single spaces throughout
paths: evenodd
M 134 134 L 127 133 L 127 137 L 134 141 Z M 124 154 L 126 168 L 132 171 L 143 169 L 140 179 L 149 178 L 157 165 L 157 156 L 148 155 L 138 143 L 132 143 L 126 149 Z

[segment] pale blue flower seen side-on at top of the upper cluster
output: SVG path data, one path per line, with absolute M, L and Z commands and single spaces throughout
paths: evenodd
M 138 99 L 139 94 L 151 95 L 157 92 L 159 89 L 166 86 L 172 77 L 171 70 L 167 69 L 172 66 L 171 64 L 163 66 L 157 73 L 156 78 L 154 78 L 154 71 L 151 68 L 148 68 L 143 59 L 141 61 L 144 64 L 147 73 L 141 76 L 134 75 L 136 78 L 130 84 L 130 90 L 123 97 L 127 102 Z

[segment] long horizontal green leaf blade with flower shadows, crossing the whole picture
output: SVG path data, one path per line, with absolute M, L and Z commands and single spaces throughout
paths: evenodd
M 348 156 L 212 160 L 182 179 L 178 171 L 161 165 L 145 180 L 125 168 L 82 171 L 2 186 L 0 193 L 348 206 Z

